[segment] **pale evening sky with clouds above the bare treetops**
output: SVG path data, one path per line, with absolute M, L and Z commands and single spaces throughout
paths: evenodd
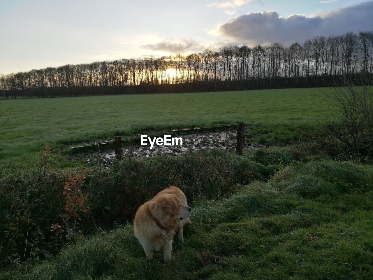
M 0 0 L 0 73 L 373 30 L 362 0 Z

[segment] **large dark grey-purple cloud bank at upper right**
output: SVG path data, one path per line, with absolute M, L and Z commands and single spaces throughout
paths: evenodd
M 245 44 L 302 43 L 316 35 L 370 30 L 373 26 L 372 15 L 373 1 L 310 17 L 293 14 L 284 18 L 273 11 L 250 12 L 229 19 L 209 34 Z

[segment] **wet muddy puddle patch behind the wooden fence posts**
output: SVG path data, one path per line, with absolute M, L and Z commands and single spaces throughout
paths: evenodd
M 210 131 L 203 133 L 191 133 L 178 135 L 182 137 L 183 145 L 179 146 L 157 146 L 154 144 L 150 149 L 148 146 L 136 144 L 134 146 L 122 147 L 122 155 L 127 157 L 147 158 L 150 156 L 178 156 L 189 151 L 199 151 L 207 149 L 227 149 L 228 152 L 236 149 L 236 132 L 235 131 Z M 247 144 L 244 150 L 257 149 L 258 146 Z M 115 159 L 115 150 L 109 149 L 96 154 L 98 158 L 111 161 Z

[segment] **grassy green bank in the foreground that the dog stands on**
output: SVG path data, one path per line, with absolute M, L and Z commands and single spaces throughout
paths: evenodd
M 3 271 L 3 276 L 372 279 L 373 169 L 323 159 L 300 162 L 291 154 L 247 155 L 245 160 L 281 165 L 269 180 L 249 183 L 227 198 L 195 200 L 193 224 L 185 227 L 185 244 L 173 249 L 170 267 L 162 253 L 146 260 L 129 224 L 82 237 L 46 262 Z

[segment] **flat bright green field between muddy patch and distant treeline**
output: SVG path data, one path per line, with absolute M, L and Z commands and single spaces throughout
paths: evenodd
M 0 163 L 28 162 L 45 145 L 109 139 L 130 134 L 131 124 L 148 129 L 215 124 L 253 125 L 250 136 L 273 144 L 296 139 L 331 115 L 327 88 L 141 94 L 2 100 L 0 111 L 17 118 L 0 128 Z M 3 116 L 2 119 L 4 119 Z M 1 121 L 1 119 L 0 119 Z M 255 126 L 258 125 L 258 126 Z

